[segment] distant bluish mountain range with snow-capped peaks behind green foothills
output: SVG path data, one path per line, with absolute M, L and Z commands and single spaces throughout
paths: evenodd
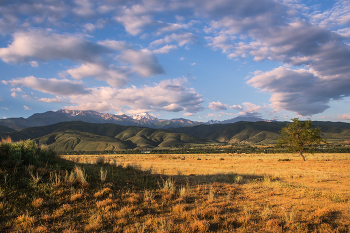
M 66 110 L 60 109 L 58 111 L 48 111 L 44 113 L 35 113 L 28 118 L 7 118 L 0 119 L 0 125 L 6 126 L 11 129 L 20 130 L 27 127 L 52 125 L 59 122 L 66 121 L 83 121 L 88 123 L 114 123 L 124 126 L 141 126 L 154 129 L 167 129 L 178 127 L 190 127 L 200 124 L 226 124 L 234 123 L 238 121 L 263 121 L 261 118 L 252 117 L 236 117 L 225 121 L 208 121 L 198 122 L 191 121 L 184 118 L 177 119 L 158 119 L 149 115 L 148 113 L 142 113 L 137 115 L 115 115 L 110 113 L 99 113 L 95 111 L 80 111 L 80 110 Z M 1 130 L 1 129 L 0 129 Z M 0 131 L 1 132 L 1 131 Z

